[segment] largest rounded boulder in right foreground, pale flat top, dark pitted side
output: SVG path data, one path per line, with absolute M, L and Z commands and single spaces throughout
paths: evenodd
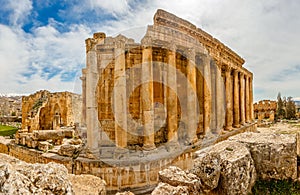
M 254 161 L 251 158 L 251 154 L 247 147 L 238 142 L 223 141 L 204 152 L 199 151 L 196 154 L 201 157 L 201 155 L 206 155 L 202 158 L 204 162 L 210 162 L 209 167 L 212 169 L 200 169 L 204 173 L 198 173 L 200 180 L 206 178 L 206 191 L 210 190 L 216 186 L 217 178 L 219 177 L 219 182 L 217 188 L 213 190 L 216 194 L 248 194 L 251 192 L 256 180 L 256 171 L 254 166 Z M 219 158 L 218 158 L 218 155 Z M 215 159 L 215 160 L 214 160 Z M 219 160 L 220 165 L 220 175 L 218 176 L 218 165 Z M 195 165 L 201 165 L 201 162 Z M 195 169 L 195 167 L 194 167 Z M 205 176 L 206 170 L 211 170 L 211 175 Z M 191 170 L 193 171 L 193 169 Z M 195 171 L 193 171 L 195 173 Z M 203 185 L 202 185 L 203 187 Z M 205 190 L 205 189 L 204 189 Z

